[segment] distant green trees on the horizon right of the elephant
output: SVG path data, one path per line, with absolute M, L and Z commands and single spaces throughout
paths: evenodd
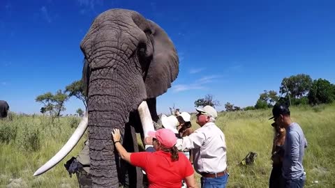
M 254 106 L 245 108 L 234 106 L 234 104 L 225 103 L 225 111 L 253 110 L 271 108 L 276 102 L 288 105 L 299 104 L 327 104 L 335 101 L 335 84 L 327 79 L 311 79 L 309 75 L 299 74 L 283 78 L 279 87 L 279 94 L 276 91 L 267 91 L 260 93 L 260 97 Z M 204 98 L 195 100 L 195 107 L 210 105 L 217 107 L 220 105 L 218 100 L 213 99 L 213 95 L 206 95 Z

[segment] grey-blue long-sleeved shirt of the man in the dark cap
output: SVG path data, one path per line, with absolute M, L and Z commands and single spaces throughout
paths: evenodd
M 304 173 L 302 158 L 307 143 L 304 132 L 297 123 L 291 123 L 286 129 L 283 157 L 283 177 L 287 180 L 300 178 Z

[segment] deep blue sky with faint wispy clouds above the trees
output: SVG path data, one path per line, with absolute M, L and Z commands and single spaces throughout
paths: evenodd
M 335 82 L 335 1 L 0 1 L 0 100 L 11 111 L 39 112 L 37 95 L 80 79 L 80 41 L 93 19 L 126 8 L 159 24 L 179 54 L 179 76 L 158 97 L 194 111 L 206 94 L 254 105 L 284 77 L 304 73 Z M 64 113 L 83 108 L 66 102 Z

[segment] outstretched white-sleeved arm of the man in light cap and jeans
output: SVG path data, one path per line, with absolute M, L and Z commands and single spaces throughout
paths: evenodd
M 188 149 L 194 149 L 194 148 L 200 148 L 204 141 L 206 140 L 206 136 L 203 132 L 195 131 L 190 136 L 185 136 L 183 139 L 177 139 L 176 147 L 178 150 L 185 150 Z

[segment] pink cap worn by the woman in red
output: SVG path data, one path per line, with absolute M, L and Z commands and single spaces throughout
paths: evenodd
M 148 132 L 148 135 L 157 139 L 163 146 L 167 148 L 172 148 L 177 143 L 177 137 L 174 132 L 172 132 L 172 130 L 159 129 L 156 132 Z

